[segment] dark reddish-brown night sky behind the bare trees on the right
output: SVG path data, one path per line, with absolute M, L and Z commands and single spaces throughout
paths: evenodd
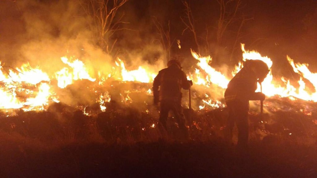
M 198 36 L 204 38 L 204 30 L 207 26 L 210 29 L 216 27 L 219 5 L 216 1 L 210 0 L 188 2 L 196 20 Z M 187 51 L 189 48 L 195 49 L 191 32 L 186 31 L 184 35 L 180 35 L 180 31 L 184 29 L 184 24 L 179 20 L 180 16 L 184 17 L 184 6 L 181 0 L 141 0 L 129 3 L 133 4 L 133 8 L 138 12 L 138 20 L 147 19 L 146 22 L 149 23 L 151 22 L 150 16 L 158 16 L 165 21 L 171 20 L 173 29 L 178 30 L 176 36 L 183 42 L 182 48 Z M 270 57 L 274 61 L 273 67 L 275 67 L 276 73 L 279 73 L 280 66 L 288 65 L 286 55 L 291 56 L 297 62 L 309 63 L 317 72 L 315 62 L 317 56 L 315 50 L 317 48 L 317 1 L 242 0 L 242 4 L 239 15 L 244 15 L 246 18 L 253 17 L 253 20 L 244 24 L 243 36 L 239 42 L 245 43 L 249 50 L 257 50 L 262 55 Z M 310 22 L 307 22 L 308 19 Z M 237 31 L 238 25 L 239 23 L 232 25 L 229 30 Z M 230 44 L 232 42 L 227 44 L 228 48 Z M 238 51 L 241 53 L 241 50 Z M 237 57 L 240 58 L 240 56 Z M 291 67 L 288 67 L 288 70 L 291 70 Z

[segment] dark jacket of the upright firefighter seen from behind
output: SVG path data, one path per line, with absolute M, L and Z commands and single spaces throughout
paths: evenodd
M 176 101 L 182 99 L 181 89 L 188 90 L 191 84 L 186 78 L 184 71 L 173 64 L 162 69 L 153 82 L 154 103 L 158 101 Z

